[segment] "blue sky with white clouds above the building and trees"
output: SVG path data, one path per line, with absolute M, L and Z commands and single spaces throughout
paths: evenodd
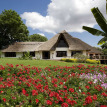
M 82 29 L 82 26 L 89 26 L 101 30 L 91 12 L 93 7 L 98 7 L 106 17 L 106 0 L 0 0 L 0 14 L 4 9 L 15 10 L 30 35 L 36 33 L 50 39 L 66 30 L 71 36 L 100 47 L 97 43 L 102 36 Z

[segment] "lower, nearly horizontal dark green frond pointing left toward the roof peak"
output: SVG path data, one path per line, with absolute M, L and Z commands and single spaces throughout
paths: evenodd
M 91 27 L 87 27 L 87 26 L 83 26 L 83 29 L 88 31 L 89 33 L 91 33 L 92 35 L 96 35 L 96 36 L 105 36 L 105 33 L 100 31 L 100 30 L 97 30 L 97 29 L 94 29 L 94 28 L 91 28 Z

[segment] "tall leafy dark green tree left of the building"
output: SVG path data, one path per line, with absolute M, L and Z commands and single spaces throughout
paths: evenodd
M 16 42 L 27 40 L 29 31 L 21 17 L 13 10 L 4 10 L 0 14 L 0 49 Z

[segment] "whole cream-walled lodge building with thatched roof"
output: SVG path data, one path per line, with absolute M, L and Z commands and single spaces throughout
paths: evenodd
M 11 44 L 2 50 L 2 57 L 18 58 L 28 51 L 36 59 L 73 58 L 76 53 L 88 56 L 101 54 L 101 51 L 78 38 L 72 37 L 64 30 L 46 42 L 16 42 Z

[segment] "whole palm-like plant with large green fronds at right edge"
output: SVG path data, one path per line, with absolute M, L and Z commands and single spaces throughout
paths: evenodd
M 103 14 L 100 12 L 98 8 L 92 8 L 91 11 L 102 31 L 87 26 L 83 26 L 83 29 L 93 35 L 103 36 L 103 38 L 98 42 L 98 44 L 100 45 L 107 41 L 107 20 L 104 18 Z M 107 0 L 106 0 L 106 12 L 107 12 Z

